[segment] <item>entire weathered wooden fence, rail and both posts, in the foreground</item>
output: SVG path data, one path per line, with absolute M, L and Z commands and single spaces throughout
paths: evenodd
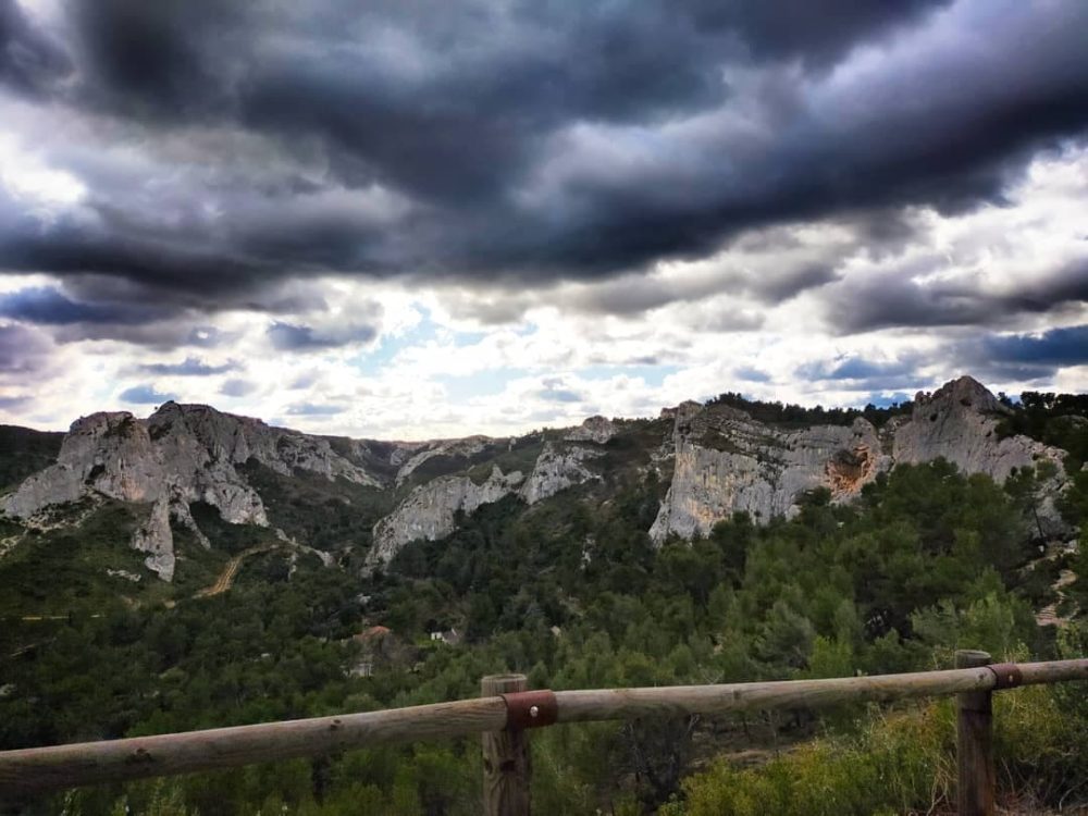
M 993 813 L 990 696 L 996 690 L 1088 680 L 1088 659 L 990 665 L 957 652 L 955 669 L 906 675 L 594 691 L 526 691 L 521 676 L 484 678 L 483 696 L 339 717 L 0 752 L 0 801 L 97 782 L 321 756 L 395 742 L 484 734 L 485 813 L 529 813 L 526 730 L 646 716 L 817 708 L 906 697 L 957 697 L 959 806 Z

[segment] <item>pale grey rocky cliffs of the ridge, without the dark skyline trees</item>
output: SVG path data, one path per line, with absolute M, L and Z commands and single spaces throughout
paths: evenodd
M 374 568 L 411 541 L 448 535 L 459 512 L 507 496 L 534 505 L 584 484 L 605 485 L 598 498 L 607 498 L 609 480 L 621 472 L 641 480 L 656 471 L 668 480 L 648 531 L 662 543 L 706 534 L 737 511 L 757 521 L 790 516 L 816 489 L 830 491 L 834 502 L 850 500 L 897 463 L 944 457 L 998 481 L 1013 469 L 1051 463 L 1043 469 L 1050 475 L 1040 529 L 1060 531 L 1053 498 L 1064 481 L 1063 452 L 1024 436 L 998 438 L 1007 410 L 965 376 L 919 393 L 910 417 L 879 429 L 861 417 L 850 424 L 762 422 L 717 401 L 683 403 L 656 421 L 591 417 L 577 428 L 520 438 L 378 442 L 310 436 L 208 406 L 168 403 L 146 420 L 127 412 L 77 420 L 55 463 L 0 496 L 0 510 L 34 526 L 47 508 L 85 497 L 143 506 L 146 516 L 131 545 L 146 554 L 148 568 L 171 580 L 173 530 L 184 528 L 200 545 L 212 546 L 191 505 L 211 505 L 231 523 L 270 527 L 255 486 L 260 482 L 250 483 L 254 462 L 287 482 L 317 478 L 386 497 L 388 504 L 364 521 L 372 541 L 366 564 Z

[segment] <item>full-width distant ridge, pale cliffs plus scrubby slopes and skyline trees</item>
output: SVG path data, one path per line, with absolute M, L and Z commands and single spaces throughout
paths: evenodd
M 620 485 L 652 480 L 657 508 L 646 532 L 660 544 L 707 535 L 735 512 L 759 522 L 791 517 L 814 491 L 848 502 L 895 465 L 944 458 L 999 482 L 1036 471 L 1038 531 L 1061 536 L 1072 530 L 1056 503 L 1088 456 L 1085 403 L 1027 393 L 1016 406 L 965 376 L 887 408 L 804 408 L 726 393 L 657 419 L 594 417 L 521 437 L 417 443 L 312 436 L 168 403 L 146 420 L 82 418 L 63 441 L 0 429 L 0 483 L 11 485 L 0 510 L 25 535 L 120 503 L 133 518 L 132 548 L 168 581 L 178 547 L 191 561 L 222 549 L 223 524 L 264 531 L 242 537 L 295 557 L 373 570 L 507 497 L 532 507 L 577 490 L 599 504 Z

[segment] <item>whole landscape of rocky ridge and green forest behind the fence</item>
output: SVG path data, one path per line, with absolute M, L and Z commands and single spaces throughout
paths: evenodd
M 890 408 L 725 394 L 510 438 L 313 436 L 173 403 L 63 438 L 0 429 L 0 750 L 467 697 L 504 670 L 589 689 L 920 670 L 964 646 L 1083 656 L 1085 403 L 961 378 Z M 1088 697 L 1015 693 L 1007 778 L 1068 805 L 1088 790 Z M 534 802 L 948 809 L 950 722 L 926 705 L 546 729 Z M 469 814 L 478 744 L 42 809 Z

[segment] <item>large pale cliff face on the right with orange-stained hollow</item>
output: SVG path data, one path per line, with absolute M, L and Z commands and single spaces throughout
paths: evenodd
M 672 482 L 651 536 L 705 535 L 738 510 L 756 520 L 798 511 L 806 491 L 827 487 L 832 500 L 855 496 L 893 465 L 943 457 L 968 473 L 1003 481 L 1014 468 L 1054 465 L 1047 485 L 1062 481 L 1062 452 L 1024 436 L 998 440 L 1007 409 L 981 384 L 964 376 L 934 394 L 918 394 L 910 419 L 880 432 L 864 419 L 850 426 L 815 425 L 786 431 L 755 422 L 726 406 L 684 403 L 675 412 Z M 1051 526 L 1060 524 L 1053 502 L 1043 502 Z

